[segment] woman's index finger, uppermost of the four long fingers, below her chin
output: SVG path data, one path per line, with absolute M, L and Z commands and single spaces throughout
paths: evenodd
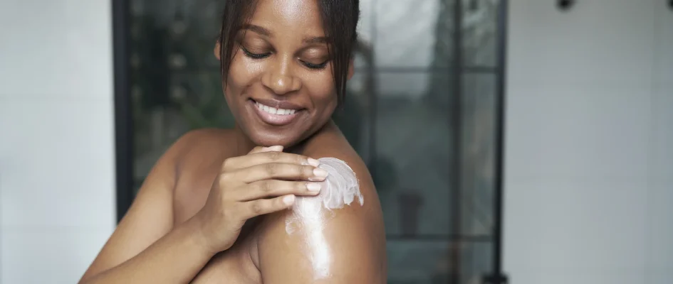
M 225 161 L 222 170 L 230 171 L 249 168 L 254 165 L 261 165 L 266 163 L 290 163 L 297 165 L 313 165 L 314 167 L 320 165 L 320 161 L 313 158 L 308 158 L 305 155 L 266 151 L 229 158 Z

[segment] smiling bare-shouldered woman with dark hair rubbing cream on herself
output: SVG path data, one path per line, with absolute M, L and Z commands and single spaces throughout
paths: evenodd
M 372 179 L 330 120 L 359 13 L 358 0 L 226 0 L 214 53 L 235 128 L 179 138 L 80 283 L 385 283 Z M 333 178 L 325 157 L 352 168 L 365 202 L 329 210 L 316 245 L 286 222 Z

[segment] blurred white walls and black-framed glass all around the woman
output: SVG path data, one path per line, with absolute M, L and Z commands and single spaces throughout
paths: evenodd
M 233 125 L 224 1 L 0 0 L 0 283 L 76 283 L 167 147 Z M 334 119 L 389 283 L 673 283 L 673 1 L 360 8 Z

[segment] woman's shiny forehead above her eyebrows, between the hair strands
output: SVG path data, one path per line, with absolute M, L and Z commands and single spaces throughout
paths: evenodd
M 300 31 L 303 35 L 324 35 L 315 0 L 259 0 L 251 23 L 273 33 Z

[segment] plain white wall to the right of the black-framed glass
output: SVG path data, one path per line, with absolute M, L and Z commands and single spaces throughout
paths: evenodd
M 673 278 L 673 11 L 510 0 L 504 269 L 516 284 Z

